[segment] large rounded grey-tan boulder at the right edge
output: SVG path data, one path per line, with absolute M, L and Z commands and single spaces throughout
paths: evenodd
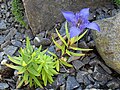
M 105 63 L 120 74 L 120 13 L 97 23 L 101 31 L 92 31 L 96 48 Z

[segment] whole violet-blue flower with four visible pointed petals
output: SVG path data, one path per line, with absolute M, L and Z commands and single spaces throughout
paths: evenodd
M 70 38 L 78 36 L 85 28 L 100 31 L 99 26 L 95 22 L 88 21 L 89 8 L 84 8 L 76 14 L 71 11 L 63 11 L 62 14 L 71 24 Z

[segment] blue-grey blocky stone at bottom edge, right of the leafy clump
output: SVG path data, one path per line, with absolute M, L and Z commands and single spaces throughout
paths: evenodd
M 66 82 L 66 90 L 73 90 L 79 87 L 79 83 L 76 81 L 75 77 L 68 76 Z

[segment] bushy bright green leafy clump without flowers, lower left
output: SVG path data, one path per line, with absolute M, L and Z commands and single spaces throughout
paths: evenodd
M 47 85 L 47 82 L 52 83 L 52 76 L 58 74 L 55 70 L 55 62 L 53 57 L 45 54 L 47 50 L 41 51 L 41 46 L 34 50 L 30 44 L 29 38 L 26 39 L 26 48 L 20 49 L 18 57 L 8 56 L 14 64 L 6 64 L 12 69 L 18 71 L 21 81 L 17 88 L 29 84 L 30 87 L 40 86 L 41 88 Z

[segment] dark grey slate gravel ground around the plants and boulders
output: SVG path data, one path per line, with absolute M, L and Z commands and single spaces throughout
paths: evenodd
M 15 21 L 11 11 L 11 0 L 0 0 L 0 90 L 14 90 L 19 81 L 16 71 L 6 67 L 4 62 L 9 62 L 8 55 L 18 55 L 20 47 L 25 47 L 25 38 L 29 36 L 34 46 L 43 45 L 55 52 L 54 45 L 49 38 L 49 31 L 41 32 L 36 36 L 32 35 L 30 29 L 23 28 Z M 102 7 L 91 11 L 89 20 L 99 20 L 114 16 L 119 9 L 112 5 L 110 8 Z M 64 23 L 60 32 L 64 34 Z M 55 34 L 55 33 L 53 33 Z M 37 38 L 37 39 L 36 39 Z M 39 39 L 39 42 L 38 42 Z M 82 90 L 82 89 L 120 89 L 120 77 L 114 70 L 106 66 L 95 49 L 95 43 L 91 32 L 87 33 L 85 39 L 79 42 L 83 48 L 93 48 L 94 51 L 78 60 L 69 62 L 74 68 L 61 67 L 61 74 L 55 77 L 52 85 L 46 86 L 45 90 Z M 27 86 L 20 90 L 31 90 Z M 37 88 L 35 90 L 42 90 Z

